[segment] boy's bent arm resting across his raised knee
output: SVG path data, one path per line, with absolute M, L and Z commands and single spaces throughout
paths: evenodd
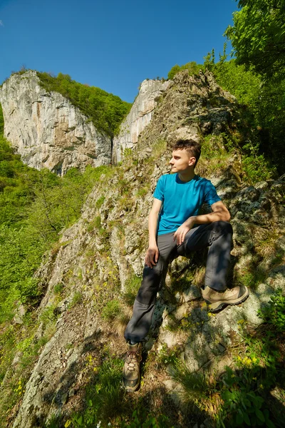
M 180 245 L 185 240 L 186 233 L 197 225 L 204 225 L 205 223 L 213 223 L 214 221 L 229 221 L 231 215 L 227 210 L 227 207 L 222 203 L 222 200 L 215 202 L 211 205 L 212 213 L 193 215 L 193 217 L 187 218 L 184 223 L 176 230 L 174 239 L 177 239 L 177 244 Z

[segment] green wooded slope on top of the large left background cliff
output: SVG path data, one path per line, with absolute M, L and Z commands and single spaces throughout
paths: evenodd
M 68 98 L 93 121 L 99 131 L 111 138 L 118 133 L 120 123 L 130 111 L 130 103 L 95 86 L 73 81 L 68 74 L 58 73 L 57 77 L 53 77 L 49 73 L 38 72 L 37 75 L 46 91 L 56 91 Z

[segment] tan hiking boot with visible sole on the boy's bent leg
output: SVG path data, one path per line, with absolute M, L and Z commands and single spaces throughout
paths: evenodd
M 245 285 L 241 285 L 240 287 L 217 291 L 206 285 L 202 290 L 202 296 L 209 305 L 209 312 L 217 312 L 225 305 L 238 305 L 244 302 L 249 296 L 249 290 Z

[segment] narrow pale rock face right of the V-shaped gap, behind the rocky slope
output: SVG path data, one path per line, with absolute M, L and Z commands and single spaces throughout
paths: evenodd
M 170 81 L 144 80 L 140 85 L 140 93 L 135 99 L 130 113 L 120 126 L 120 133 L 113 141 L 113 163 L 122 159 L 125 148 L 134 148 L 138 136 L 150 123 L 157 100 L 170 86 Z

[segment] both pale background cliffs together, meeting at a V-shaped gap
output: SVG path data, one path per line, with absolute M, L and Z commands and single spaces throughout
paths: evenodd
M 22 161 L 36 169 L 64 174 L 73 167 L 116 164 L 125 148 L 138 143 L 157 100 L 170 83 L 143 81 L 119 135 L 110 141 L 61 93 L 43 89 L 36 71 L 15 74 L 0 88 L 4 136 Z

